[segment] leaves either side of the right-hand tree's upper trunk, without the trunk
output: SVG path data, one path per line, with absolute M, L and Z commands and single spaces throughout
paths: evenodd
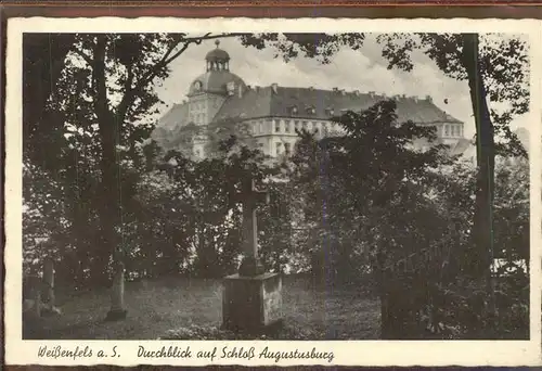
M 412 54 L 420 51 L 429 56 L 440 71 L 457 80 L 467 79 L 465 34 L 385 34 L 378 37 L 388 68 L 411 71 Z M 481 36 L 480 69 L 491 107 L 496 140 L 506 152 L 526 156 L 517 137 L 509 130 L 511 121 L 529 106 L 528 43 L 520 37 L 500 34 Z M 504 149 L 502 149 L 504 150 Z M 501 151 L 502 151 L 501 150 Z M 500 152 L 503 153 L 503 152 Z

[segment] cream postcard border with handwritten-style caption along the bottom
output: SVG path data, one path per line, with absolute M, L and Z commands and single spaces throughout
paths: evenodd
M 345 366 L 537 366 L 541 364 L 541 139 L 542 120 L 542 23 L 534 20 L 250 20 L 212 18 L 186 20 L 172 17 L 118 17 L 99 18 L 11 18 L 8 22 L 7 59 L 7 112 L 5 112 L 5 236 L 4 250 L 4 323 L 5 361 L 8 364 L 186 364 L 205 366 L 206 359 L 147 359 L 138 358 L 140 345 L 159 348 L 175 344 L 190 345 L 192 353 L 211 350 L 215 346 L 255 346 L 256 357 L 247 359 L 216 359 L 214 364 L 345 364 Z M 511 33 L 529 34 L 531 39 L 531 340 L 530 341 L 333 341 L 333 342 L 166 342 L 166 341 L 23 341 L 22 314 L 22 35 L 23 33 L 130 33 L 130 31 L 285 31 L 288 33 L 389 33 L 389 31 L 440 31 L 440 33 Z M 75 348 L 86 346 L 95 349 L 113 349 L 115 358 L 38 358 L 42 345 Z M 333 351 L 332 363 L 324 360 L 281 360 L 257 357 L 266 346 L 272 350 Z M 112 353 L 108 351 L 111 355 Z

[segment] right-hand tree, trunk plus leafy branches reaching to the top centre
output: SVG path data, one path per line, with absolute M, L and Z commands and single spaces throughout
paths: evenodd
M 289 61 L 299 54 L 319 57 L 328 63 L 340 46 L 360 49 L 364 34 L 275 34 L 245 37 L 243 42 L 261 49 L 272 46 L 278 55 Z M 526 152 L 509 130 L 509 123 L 528 111 L 528 54 L 527 43 L 520 38 L 503 38 L 485 35 L 482 44 L 475 34 L 383 34 L 377 37 L 388 68 L 411 71 L 412 53 L 422 51 L 448 76 L 467 80 L 477 133 L 477 192 L 475 233 L 470 248 L 472 264 L 465 267 L 474 277 L 486 277 L 493 250 L 493 177 L 495 151 L 512 151 L 526 156 Z M 488 106 L 491 103 L 508 103 L 505 110 Z M 495 136 L 503 143 L 495 146 Z

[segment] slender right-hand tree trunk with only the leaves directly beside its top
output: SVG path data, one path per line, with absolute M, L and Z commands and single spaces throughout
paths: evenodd
M 390 61 L 389 67 L 412 69 L 411 53 L 421 50 L 448 76 L 467 80 L 477 133 L 477 192 L 475 234 L 472 251 L 475 277 L 487 276 L 492 256 L 492 204 L 495 144 L 494 136 L 507 140 L 507 149 L 514 154 L 526 156 L 526 152 L 509 130 L 508 124 L 527 112 L 529 104 L 527 47 L 518 38 L 483 36 L 479 44 L 476 34 L 420 34 L 411 40 L 405 35 L 380 37 L 385 44 L 384 55 Z M 399 46 L 402 46 L 400 48 Z M 487 98 L 492 103 L 508 102 L 504 112 L 490 110 Z M 495 125 L 494 125 L 495 124 Z M 502 145 L 498 148 L 503 153 Z

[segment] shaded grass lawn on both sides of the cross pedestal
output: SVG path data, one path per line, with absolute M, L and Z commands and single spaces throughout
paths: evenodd
M 57 293 L 61 316 L 26 325 L 24 338 L 156 340 L 169 330 L 220 327 L 220 280 L 162 279 L 126 284 L 128 318 L 105 322 L 107 290 Z M 307 278 L 283 279 L 284 325 L 307 330 L 310 340 L 374 340 L 379 333 L 379 303 L 362 289 L 319 286 Z

